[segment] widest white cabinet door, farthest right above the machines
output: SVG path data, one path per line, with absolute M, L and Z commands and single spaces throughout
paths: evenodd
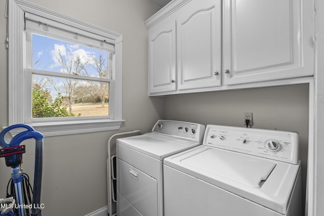
M 225 0 L 225 84 L 312 75 L 311 6 L 302 0 Z

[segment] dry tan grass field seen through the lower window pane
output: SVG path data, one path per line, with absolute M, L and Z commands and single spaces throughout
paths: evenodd
M 69 109 L 67 108 L 67 110 L 69 110 Z M 109 115 L 109 103 L 106 103 L 104 107 L 101 107 L 101 103 L 73 104 L 72 105 L 72 113 L 75 116 L 77 116 L 80 113 L 81 117 Z

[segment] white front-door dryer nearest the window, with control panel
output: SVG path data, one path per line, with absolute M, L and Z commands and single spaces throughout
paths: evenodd
M 117 139 L 117 215 L 163 216 L 163 159 L 201 145 L 205 128 L 159 120 L 150 133 Z

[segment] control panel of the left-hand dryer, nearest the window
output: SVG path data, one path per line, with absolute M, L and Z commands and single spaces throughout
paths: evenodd
M 175 120 L 158 120 L 152 132 L 202 143 L 206 126 L 198 123 Z

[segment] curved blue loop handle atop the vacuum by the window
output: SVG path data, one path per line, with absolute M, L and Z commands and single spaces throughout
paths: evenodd
M 20 132 L 19 134 L 17 134 L 15 137 L 13 137 L 11 139 L 10 143 L 7 143 L 5 141 L 5 135 L 9 131 L 11 131 L 12 129 L 20 128 L 20 127 L 26 128 L 27 131 Z M 27 124 L 14 124 L 14 125 L 11 125 L 11 126 L 5 128 L 0 133 L 0 146 L 2 148 L 9 148 L 9 147 L 14 147 L 14 146 L 19 146 L 22 141 L 30 139 L 30 138 L 34 138 L 35 140 L 39 140 L 39 139 L 43 139 L 44 136 L 41 133 L 36 132 L 34 130 L 34 128 L 32 128 L 31 126 L 29 126 Z

